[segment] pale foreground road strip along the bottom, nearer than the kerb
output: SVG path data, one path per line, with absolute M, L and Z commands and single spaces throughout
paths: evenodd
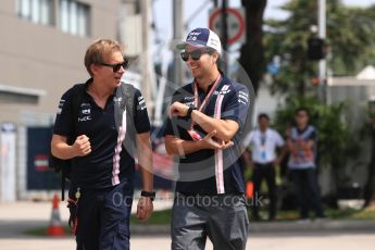
M 74 249 L 74 240 L 65 239 L 41 239 L 41 238 L 5 238 L 0 239 L 1 250 L 70 250 Z M 167 250 L 170 249 L 170 238 L 162 237 L 133 237 L 133 250 Z M 207 247 L 212 250 L 212 246 Z M 247 249 L 255 250 L 374 250 L 374 234 L 309 234 L 309 235 L 252 235 L 249 238 Z

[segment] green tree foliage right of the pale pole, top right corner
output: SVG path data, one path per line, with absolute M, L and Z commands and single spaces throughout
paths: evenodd
M 355 74 L 374 61 L 375 7 L 348 8 L 327 5 L 327 43 L 333 58 L 329 66 L 335 75 Z

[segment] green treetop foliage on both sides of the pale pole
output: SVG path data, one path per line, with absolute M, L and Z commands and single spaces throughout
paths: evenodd
M 317 63 L 307 57 L 311 25 L 317 24 L 317 1 L 291 0 L 283 10 L 287 20 L 265 21 L 264 47 L 266 62 L 282 59 L 274 77 L 273 91 L 304 96 L 312 90 Z M 353 75 L 375 62 L 375 7 L 351 8 L 339 0 L 327 1 L 328 67 L 334 75 Z

